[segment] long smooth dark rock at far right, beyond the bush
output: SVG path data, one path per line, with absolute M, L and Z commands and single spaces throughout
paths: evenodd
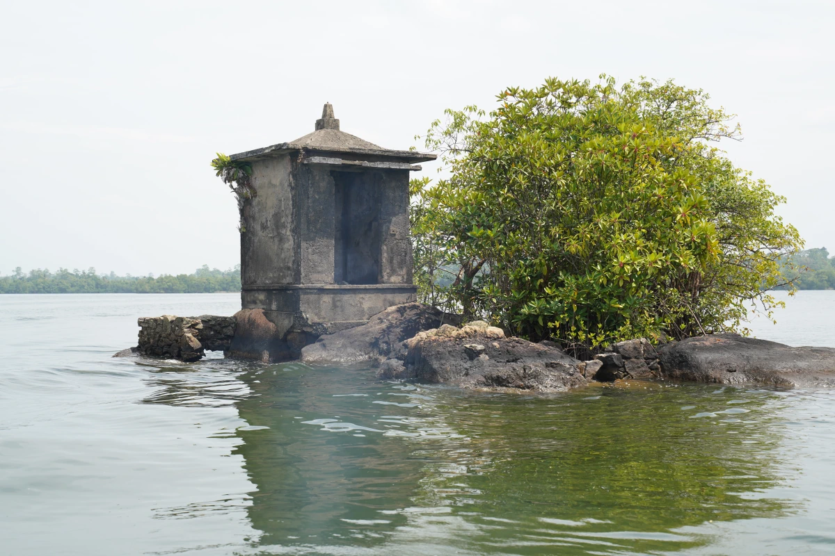
M 658 348 L 663 376 L 701 383 L 835 388 L 835 348 L 714 334 Z

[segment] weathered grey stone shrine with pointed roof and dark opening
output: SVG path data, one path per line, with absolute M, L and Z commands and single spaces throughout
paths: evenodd
M 263 310 L 271 343 L 297 353 L 415 300 L 409 172 L 435 155 L 345 133 L 327 103 L 313 133 L 230 158 L 251 163 L 256 191 L 241 215 L 241 304 Z

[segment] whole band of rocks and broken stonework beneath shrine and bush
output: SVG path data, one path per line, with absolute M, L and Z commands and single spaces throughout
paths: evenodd
M 233 317 L 163 315 L 139 318 L 139 345 L 115 357 L 143 355 L 197 361 L 205 350 L 264 362 L 276 356 L 307 363 L 367 361 L 380 378 L 455 383 L 464 388 L 558 392 L 589 381 L 625 379 L 835 388 L 835 348 L 793 348 L 737 334 L 714 334 L 653 346 L 645 338 L 613 343 L 579 361 L 558 343 L 504 338 L 476 321 L 461 328 L 420 303 L 392 306 L 368 323 L 322 335 L 315 343 L 282 335 L 261 309 Z M 302 338 L 304 339 L 304 338 Z M 274 345 L 275 344 L 275 345 Z

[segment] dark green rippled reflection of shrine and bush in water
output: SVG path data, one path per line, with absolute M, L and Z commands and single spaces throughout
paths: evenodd
M 787 469 L 772 392 L 514 396 L 225 361 L 151 376 L 146 403 L 234 403 L 248 423 L 214 432 L 240 439 L 253 492 L 159 510 L 245 507 L 261 537 L 240 553 L 676 551 L 712 542 L 692 526 L 795 510 L 766 495 Z

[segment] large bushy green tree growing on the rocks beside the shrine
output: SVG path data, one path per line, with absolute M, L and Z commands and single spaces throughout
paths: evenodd
M 741 131 L 708 99 L 549 78 L 447 110 L 425 139 L 450 176 L 412 180 L 421 301 L 580 350 L 771 315 L 802 240 L 716 148 Z

